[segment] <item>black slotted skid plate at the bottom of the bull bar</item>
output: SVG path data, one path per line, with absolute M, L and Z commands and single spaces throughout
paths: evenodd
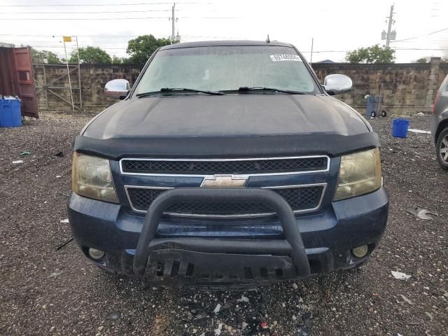
M 251 287 L 297 277 L 288 256 L 204 253 L 161 249 L 148 255 L 144 283 L 147 286 Z

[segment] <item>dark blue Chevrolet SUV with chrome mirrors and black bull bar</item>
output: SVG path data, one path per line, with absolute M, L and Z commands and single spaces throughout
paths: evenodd
M 96 265 L 232 288 L 348 269 L 386 228 L 379 138 L 279 42 L 179 43 L 76 137 L 69 221 Z

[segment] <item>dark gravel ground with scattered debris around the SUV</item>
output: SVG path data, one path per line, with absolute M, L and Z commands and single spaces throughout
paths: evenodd
M 428 116 L 411 119 L 428 130 Z M 246 292 L 188 292 L 105 274 L 73 242 L 57 250 L 71 237 L 61 223 L 70 148 L 87 120 L 47 114 L 0 129 L 1 335 L 448 335 L 448 177 L 430 135 L 394 139 L 390 117 L 370 120 L 391 211 L 365 267 Z M 439 217 L 407 214 L 416 205 Z

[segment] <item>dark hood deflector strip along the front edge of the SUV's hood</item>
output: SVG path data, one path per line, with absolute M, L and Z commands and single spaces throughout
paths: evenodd
M 94 139 L 78 135 L 73 149 L 111 160 L 121 158 L 269 158 L 328 155 L 379 147 L 377 133 L 250 137 L 146 137 Z

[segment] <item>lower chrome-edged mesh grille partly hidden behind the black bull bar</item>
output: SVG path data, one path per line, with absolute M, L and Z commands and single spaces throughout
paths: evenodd
M 166 189 L 127 186 L 126 190 L 134 211 L 146 212 L 155 198 Z M 293 211 L 309 211 L 319 207 L 325 184 L 272 188 L 272 190 L 283 197 Z M 260 216 L 273 212 L 265 204 L 255 202 L 179 202 L 165 211 L 166 214 L 182 216 Z

